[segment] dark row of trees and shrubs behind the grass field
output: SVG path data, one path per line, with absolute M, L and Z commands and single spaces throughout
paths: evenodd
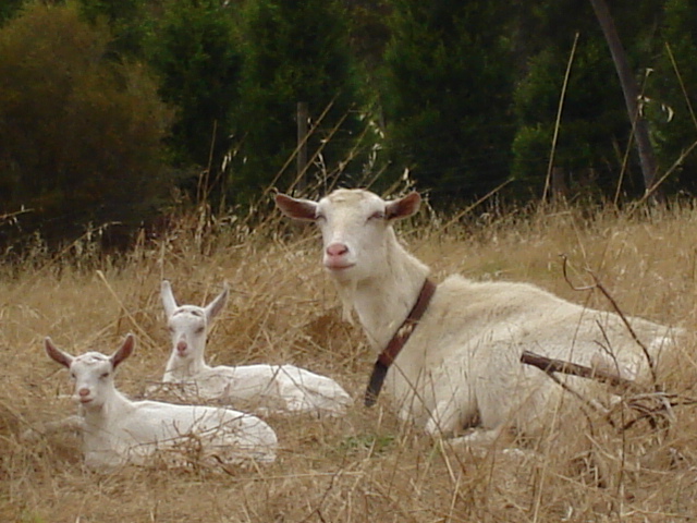
M 658 178 L 693 194 L 697 0 L 608 7 Z M 7 0 L 0 46 L 0 216 L 32 208 L 24 230 L 57 240 L 174 187 L 216 209 L 293 187 L 299 101 L 310 127 L 330 108 L 306 190 L 408 169 L 444 208 L 512 179 L 504 196 L 538 199 L 552 167 L 567 197 L 645 191 L 588 0 Z

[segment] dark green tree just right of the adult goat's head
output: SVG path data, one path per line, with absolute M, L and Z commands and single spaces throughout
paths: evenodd
M 382 95 L 389 156 L 433 199 L 509 175 L 514 81 L 502 2 L 395 0 Z

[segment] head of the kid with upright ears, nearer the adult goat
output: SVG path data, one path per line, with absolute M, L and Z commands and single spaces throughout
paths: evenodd
M 213 318 L 228 301 L 229 289 L 218 294 L 208 305 L 178 305 L 168 280 L 162 281 L 161 297 L 167 325 L 172 339 L 172 354 L 180 358 L 204 357 L 206 333 Z

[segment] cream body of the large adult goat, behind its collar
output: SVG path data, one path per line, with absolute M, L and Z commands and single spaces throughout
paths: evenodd
M 673 346 L 670 328 L 627 319 L 652 357 Z M 527 283 L 453 276 L 438 287 L 398 356 L 389 388 L 402 414 L 417 421 L 445 409 L 455 416 L 451 429 L 475 418 L 497 427 L 514 416 L 524 430 L 536 430 L 561 388 L 540 369 L 522 364 L 524 351 L 588 366 L 594 355 L 610 355 L 623 368 L 639 374 L 648 368 L 617 314 L 583 307 Z M 597 389 L 587 379 L 562 379 L 582 391 Z

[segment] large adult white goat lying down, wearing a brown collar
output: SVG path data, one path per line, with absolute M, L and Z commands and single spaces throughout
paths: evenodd
M 431 283 L 429 268 L 392 229 L 394 220 L 418 210 L 418 193 L 386 202 L 368 191 L 338 190 L 319 202 L 278 194 L 276 203 L 284 215 L 318 224 L 323 266 L 344 312 L 357 313 L 379 354 L 366 403 L 375 401 L 394 363 L 386 386 L 400 416 L 430 434 L 454 435 L 476 423 L 480 429 L 467 436 L 470 442 L 491 440 L 503 427 L 538 433 L 553 411 L 549 402 L 562 391 L 538 368 L 521 364 L 526 350 L 582 365 L 616 358 L 633 373 L 646 368 L 643 350 L 616 314 L 526 283 L 461 276 Z M 653 358 L 673 345 L 669 328 L 628 319 Z M 562 379 L 579 390 L 594 386 Z

